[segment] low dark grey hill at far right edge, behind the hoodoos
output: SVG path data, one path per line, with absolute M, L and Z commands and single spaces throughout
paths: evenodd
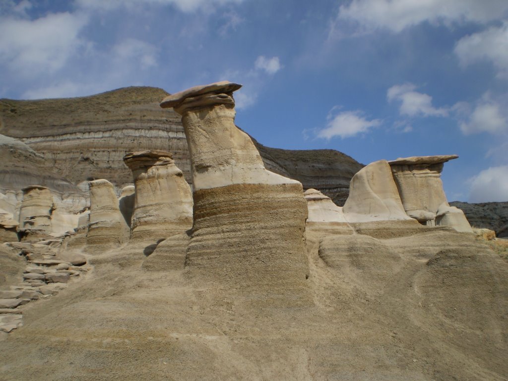
M 469 204 L 454 201 L 450 205 L 461 209 L 471 226 L 493 230 L 497 237 L 508 237 L 508 202 Z

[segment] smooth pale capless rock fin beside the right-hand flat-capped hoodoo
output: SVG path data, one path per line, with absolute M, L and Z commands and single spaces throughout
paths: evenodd
M 404 211 L 386 160 L 371 163 L 353 176 L 342 210 L 350 223 L 411 219 Z

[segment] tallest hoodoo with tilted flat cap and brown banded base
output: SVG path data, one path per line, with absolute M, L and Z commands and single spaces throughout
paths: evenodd
M 311 303 L 302 184 L 265 169 L 234 123 L 233 91 L 217 82 L 173 94 L 190 152 L 194 225 L 186 266 L 195 281 L 257 306 Z

